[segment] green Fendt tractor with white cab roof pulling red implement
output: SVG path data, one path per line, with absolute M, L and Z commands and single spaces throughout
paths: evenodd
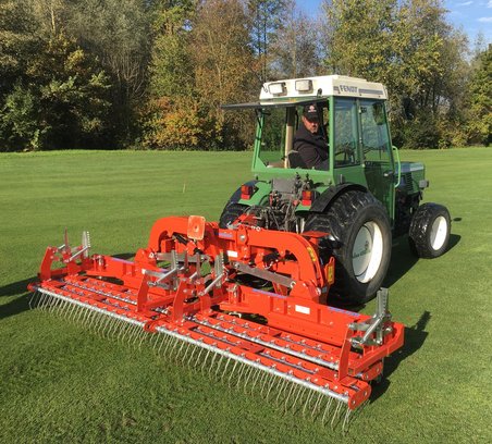
M 220 226 L 254 221 L 296 233 L 324 232 L 321 259 L 335 257 L 339 298 L 374 297 L 390 264 L 392 238 L 408 235 L 411 251 L 436 258 L 447 248 L 451 219 L 420 205 L 425 166 L 401 162 L 392 146 L 388 92 L 379 83 L 330 75 L 266 83 L 259 102 L 225 106 L 256 111 L 255 180 L 230 198 Z M 308 168 L 295 150 L 306 106 L 315 106 L 328 159 Z

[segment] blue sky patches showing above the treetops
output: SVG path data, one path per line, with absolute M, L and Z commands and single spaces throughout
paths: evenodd
M 297 0 L 297 4 L 309 15 L 316 15 L 321 0 Z M 450 23 L 468 35 L 471 47 L 479 32 L 485 42 L 492 42 L 492 0 L 448 0 L 444 8 L 448 10 Z

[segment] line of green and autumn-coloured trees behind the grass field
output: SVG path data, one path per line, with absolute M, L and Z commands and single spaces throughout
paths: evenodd
M 382 82 L 393 141 L 489 145 L 491 46 L 441 0 L 0 0 L 0 150 L 247 149 L 263 82 Z

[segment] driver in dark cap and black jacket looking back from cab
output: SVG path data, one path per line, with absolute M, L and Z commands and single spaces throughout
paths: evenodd
M 294 136 L 294 149 L 299 152 L 306 166 L 328 170 L 328 145 L 320 131 L 318 109 L 315 103 L 304 107 L 303 125 Z

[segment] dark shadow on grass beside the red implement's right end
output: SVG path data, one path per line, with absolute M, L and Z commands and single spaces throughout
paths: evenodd
M 429 334 L 426 332 L 426 328 L 430 319 L 431 313 L 425 311 L 415 325 L 405 328 L 405 344 L 399 350 L 384 360 L 383 379 L 379 384 L 372 385 L 371 403 L 383 395 L 390 386 L 391 382 L 388 380 L 388 377 L 398 368 L 403 360 L 411 356 L 423 345 Z

